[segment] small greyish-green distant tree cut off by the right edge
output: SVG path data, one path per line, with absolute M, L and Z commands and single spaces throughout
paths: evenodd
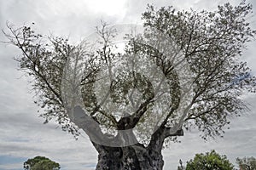
M 256 170 L 256 159 L 252 157 L 236 158 L 236 163 L 239 165 L 239 170 Z

